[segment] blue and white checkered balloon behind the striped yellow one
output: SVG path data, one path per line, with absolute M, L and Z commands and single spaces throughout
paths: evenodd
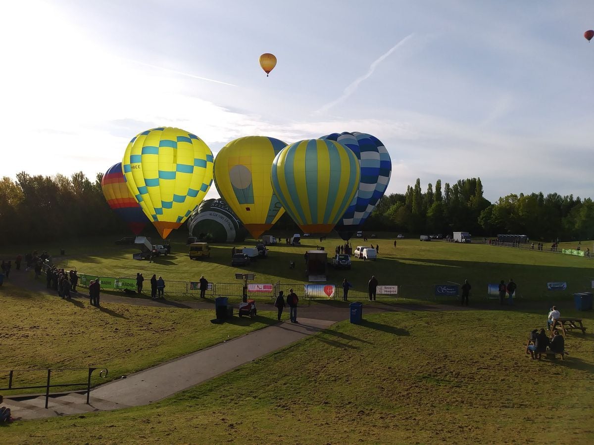
M 340 142 L 352 150 L 361 164 L 361 182 L 355 199 L 336 224 L 336 231 L 343 240 L 349 240 L 369 217 L 390 182 L 392 161 L 380 139 L 366 133 L 333 133 L 322 136 Z

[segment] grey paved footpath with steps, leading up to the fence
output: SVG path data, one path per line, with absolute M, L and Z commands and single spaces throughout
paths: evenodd
M 11 272 L 11 282 L 19 287 L 37 293 L 55 294 L 45 288 L 45 279 L 34 281 L 27 274 Z M 45 277 L 41 277 L 45 278 Z M 86 290 L 84 290 L 86 291 Z M 88 298 L 85 294 L 73 294 L 74 298 Z M 58 298 L 56 296 L 56 298 Z M 135 304 L 158 307 L 180 307 L 185 309 L 213 309 L 213 301 L 171 301 L 151 300 L 143 297 L 102 294 L 102 303 Z M 265 310 L 276 310 L 272 302 L 257 302 Z M 381 311 L 410 310 L 452 310 L 462 309 L 451 306 L 441 307 L 412 304 L 366 304 L 364 314 Z M 214 311 L 213 311 L 214 313 Z M 106 409 L 126 408 L 146 405 L 188 389 L 213 377 L 225 374 L 234 368 L 263 357 L 270 352 L 286 347 L 299 339 L 324 330 L 336 322 L 349 318 L 347 304 L 337 305 L 309 303 L 299 307 L 299 323 L 279 322 L 276 325 L 248 333 L 213 347 L 193 352 L 152 368 L 130 374 L 125 379 L 115 380 L 91 390 L 90 405 L 86 405 L 86 396 L 76 393 L 56 396 L 50 399 L 48 409 L 45 398 L 27 400 L 7 399 L 3 405 L 12 410 L 13 417 L 23 419 L 52 417 L 56 415 L 81 414 L 84 412 L 103 411 Z

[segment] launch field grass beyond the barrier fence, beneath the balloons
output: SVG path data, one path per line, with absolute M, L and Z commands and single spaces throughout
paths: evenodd
M 348 278 L 355 291 L 365 292 L 371 275 L 377 276 L 380 284 L 400 286 L 400 296 L 405 298 L 434 299 L 434 285 L 448 282 L 462 283 L 469 279 L 473 285 L 472 297 L 475 301 L 486 299 L 486 285 L 506 282 L 513 278 L 518 284 L 517 296 L 526 300 L 557 301 L 571 297 L 574 292 L 591 290 L 594 279 L 594 260 L 551 253 L 548 251 L 495 247 L 485 244 L 459 244 L 445 241 L 422 243 L 418 239 L 398 240 L 393 246 L 395 234 L 378 234 L 369 239 L 368 244 L 378 244 L 379 259 L 364 262 L 353 259 L 350 271 L 330 270 L 328 282 L 339 285 Z M 249 269 L 230 266 L 231 244 L 212 244 L 211 258 L 192 261 L 187 255 L 185 234 L 177 233 L 172 239 L 172 255 L 159 257 L 156 262 L 132 260 L 135 247 L 118 246 L 113 243 L 116 237 L 103 237 L 80 243 L 62 243 L 44 246 L 14 246 L 5 249 L 0 258 L 12 258 L 17 252 L 36 248 L 47 249 L 50 253 L 65 249 L 65 258 L 55 258 L 57 263 L 66 263 L 86 274 L 103 276 L 129 276 L 143 272 L 146 278 L 152 274 L 165 279 L 197 281 L 205 275 L 208 281 L 216 283 L 238 283 L 235 272 L 253 271 L 260 283 L 299 284 L 305 283 L 304 253 L 308 249 L 324 246 L 328 257 L 342 240 L 329 237 L 320 243 L 319 239 L 304 238 L 303 246 L 291 247 L 284 243 L 270 247 L 269 258 L 258 260 Z M 353 248 L 362 239 L 352 239 Z M 591 241 L 584 241 L 583 247 Z M 567 247 L 575 247 L 567 243 Z M 252 241 L 236 247 L 251 246 Z M 563 246 L 562 246 L 563 247 Z M 296 268 L 289 269 L 289 261 L 295 261 Z M 548 291 L 546 282 L 566 281 L 566 291 Z M 181 300 L 194 298 L 178 295 Z

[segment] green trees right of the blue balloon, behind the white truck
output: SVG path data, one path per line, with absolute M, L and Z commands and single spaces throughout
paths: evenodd
M 475 236 L 525 234 L 530 239 L 594 239 L 594 203 L 558 193 L 511 194 L 495 203 L 483 196 L 480 178 L 460 179 L 453 185 L 441 180 L 422 192 L 421 180 L 405 194 L 380 199 L 365 230 L 402 231 L 411 234 L 451 234 L 469 231 Z

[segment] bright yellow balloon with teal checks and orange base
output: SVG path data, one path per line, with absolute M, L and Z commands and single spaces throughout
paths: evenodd
M 208 192 L 213 154 L 198 136 L 159 127 L 132 138 L 122 169 L 128 189 L 165 239 Z

